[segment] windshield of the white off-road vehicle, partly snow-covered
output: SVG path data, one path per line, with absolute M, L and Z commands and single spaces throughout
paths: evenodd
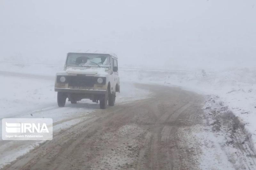
M 108 54 L 91 54 L 91 53 L 69 53 L 67 58 L 67 66 L 96 66 L 108 67 Z

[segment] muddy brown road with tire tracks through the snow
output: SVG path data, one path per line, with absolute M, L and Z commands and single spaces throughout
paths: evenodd
M 246 159 L 245 151 L 236 151 L 233 161 L 211 140 L 216 137 L 209 135 L 203 96 L 179 88 L 137 86 L 150 90 L 151 96 L 96 110 L 3 169 L 255 168 L 251 151 Z

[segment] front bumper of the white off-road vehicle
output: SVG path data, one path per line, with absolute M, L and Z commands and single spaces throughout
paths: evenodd
M 84 93 L 84 94 L 97 94 L 97 95 L 105 95 L 107 94 L 107 90 L 85 90 L 85 89 L 69 89 L 69 88 L 54 88 L 57 92 L 65 92 L 65 93 Z

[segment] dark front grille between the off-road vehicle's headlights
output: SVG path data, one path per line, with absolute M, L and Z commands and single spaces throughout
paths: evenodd
M 93 76 L 76 75 L 68 76 L 68 86 L 71 87 L 93 87 L 97 80 Z

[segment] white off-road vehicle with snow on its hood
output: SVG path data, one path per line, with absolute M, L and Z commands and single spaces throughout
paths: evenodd
M 66 99 L 76 103 L 90 99 L 105 109 L 114 106 L 116 92 L 120 92 L 117 56 L 100 53 L 68 53 L 64 71 L 55 79 L 58 105 L 64 107 Z

